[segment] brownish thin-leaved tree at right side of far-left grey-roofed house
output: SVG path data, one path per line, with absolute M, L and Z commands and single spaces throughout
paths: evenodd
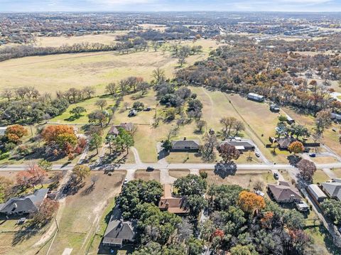
M 53 219 L 53 215 L 58 210 L 58 202 L 45 198 L 40 205 L 38 212 L 33 215 L 32 224 L 36 227 L 43 227 Z

